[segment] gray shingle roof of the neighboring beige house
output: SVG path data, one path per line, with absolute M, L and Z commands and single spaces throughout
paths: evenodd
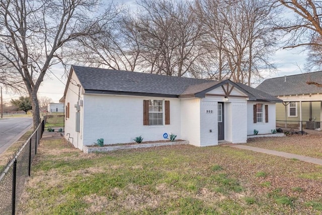
M 306 84 L 307 81 L 322 83 L 322 71 L 267 79 L 256 89 L 273 96 L 322 93 L 322 88 Z

